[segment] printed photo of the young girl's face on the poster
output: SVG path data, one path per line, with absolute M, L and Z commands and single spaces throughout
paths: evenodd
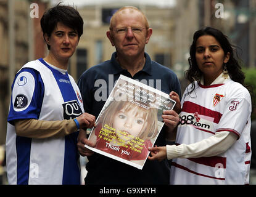
M 89 140 L 96 140 L 94 148 L 140 164 L 148 156 L 151 140 L 157 136 L 157 123 L 157 108 L 114 100 L 98 119 Z

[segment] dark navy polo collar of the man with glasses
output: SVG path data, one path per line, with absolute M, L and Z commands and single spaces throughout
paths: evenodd
M 114 52 L 112 54 L 112 57 L 111 57 L 111 60 L 110 60 L 110 62 L 112 63 L 112 73 L 113 74 L 119 74 L 119 73 L 122 73 L 122 71 L 125 70 L 120 66 L 116 57 L 117 57 L 117 52 Z M 152 71 L 151 58 L 149 57 L 149 55 L 146 52 L 145 52 L 145 57 L 146 57 L 146 62 L 145 62 L 145 65 L 144 65 L 144 67 L 141 71 L 144 71 L 145 73 L 151 75 L 151 71 Z

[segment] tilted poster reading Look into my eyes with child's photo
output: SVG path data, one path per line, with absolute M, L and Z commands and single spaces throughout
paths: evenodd
M 142 169 L 163 127 L 163 110 L 175 101 L 168 94 L 120 75 L 89 135 L 86 148 Z

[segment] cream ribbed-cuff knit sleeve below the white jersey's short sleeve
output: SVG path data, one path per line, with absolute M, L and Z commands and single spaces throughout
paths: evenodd
M 222 131 L 215 135 L 189 145 L 167 145 L 167 159 L 173 158 L 199 158 L 215 156 L 228 150 L 237 140 L 233 132 Z

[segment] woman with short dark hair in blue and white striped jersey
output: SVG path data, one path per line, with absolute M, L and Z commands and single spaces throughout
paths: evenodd
M 95 117 L 84 113 L 67 66 L 83 19 L 73 7 L 58 4 L 46 10 L 41 28 L 49 54 L 22 66 L 12 84 L 7 177 L 9 184 L 80 184 L 78 131 L 93 127 Z

